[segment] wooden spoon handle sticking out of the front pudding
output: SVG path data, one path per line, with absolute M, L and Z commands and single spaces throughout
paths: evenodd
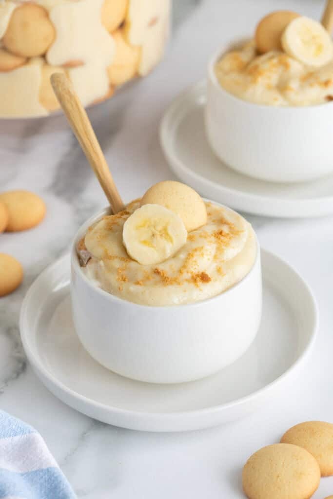
M 124 204 L 87 113 L 76 95 L 73 85 L 62 73 L 53 73 L 50 80 L 60 106 L 111 205 L 113 213 L 120 212 L 124 209 Z

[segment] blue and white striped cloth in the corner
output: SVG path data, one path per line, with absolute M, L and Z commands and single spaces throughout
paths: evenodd
M 0 411 L 0 498 L 75 497 L 39 433 Z

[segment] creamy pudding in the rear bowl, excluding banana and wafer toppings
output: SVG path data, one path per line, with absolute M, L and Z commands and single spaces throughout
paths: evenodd
M 254 40 L 223 55 L 215 74 L 227 92 L 256 104 L 307 106 L 333 97 L 333 60 L 315 68 L 281 50 L 260 55 Z

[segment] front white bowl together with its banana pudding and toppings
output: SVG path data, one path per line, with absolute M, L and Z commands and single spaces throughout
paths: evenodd
M 174 181 L 78 231 L 71 294 L 77 334 L 108 369 L 140 381 L 208 376 L 239 358 L 261 319 L 251 225 Z

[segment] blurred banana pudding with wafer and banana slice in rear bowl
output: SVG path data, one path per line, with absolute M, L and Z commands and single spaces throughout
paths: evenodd
M 221 87 L 270 106 L 308 106 L 333 99 L 333 43 L 317 21 L 277 11 L 258 24 L 255 38 L 215 65 Z

